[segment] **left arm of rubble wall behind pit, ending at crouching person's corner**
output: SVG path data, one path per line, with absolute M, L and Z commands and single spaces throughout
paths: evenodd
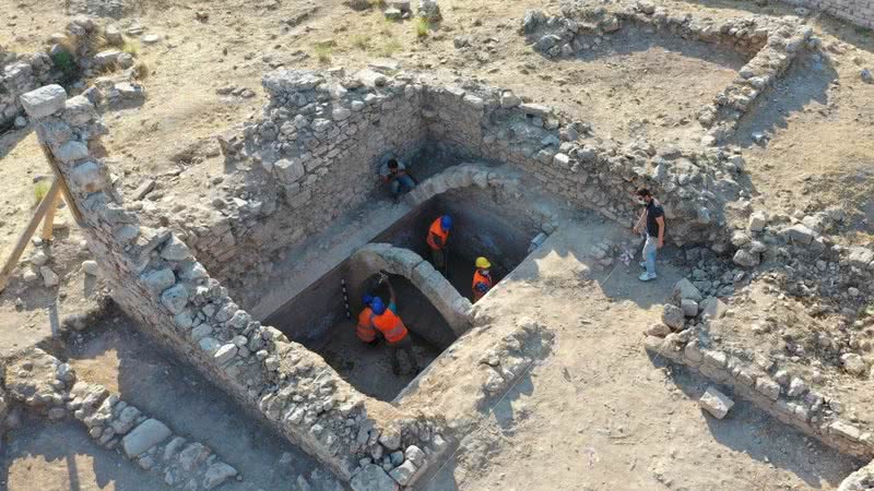
M 220 225 L 175 224 L 209 270 L 225 278 L 252 271 L 247 255 L 269 258 L 371 199 L 380 189 L 381 159 L 409 159 L 425 136 L 421 87 L 403 80 L 369 72 L 341 83 L 283 70 L 264 76 L 263 86 L 270 104 L 262 119 L 221 140 L 229 159 L 249 165 L 236 190 L 248 197 L 228 200 L 222 212 L 229 219 Z

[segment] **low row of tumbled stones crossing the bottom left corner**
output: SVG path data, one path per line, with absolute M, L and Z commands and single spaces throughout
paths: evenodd
M 101 446 L 123 455 L 176 489 L 210 490 L 237 470 L 199 442 L 189 442 L 157 419 L 110 394 L 102 385 L 76 381 L 68 363 L 29 348 L 9 363 L 5 391 L 10 403 L 57 421 L 72 416 Z M 5 404 L 3 404 L 5 409 Z

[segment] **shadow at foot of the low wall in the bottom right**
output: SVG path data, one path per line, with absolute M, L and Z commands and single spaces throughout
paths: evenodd
M 732 451 L 787 469 L 814 489 L 822 489 L 823 480 L 830 488 L 837 488 L 850 472 L 864 465 L 806 436 L 800 430 L 758 409 L 753 403 L 735 398 L 730 387 L 712 384 L 688 367 L 670 363 L 669 360 L 649 351 L 647 355 L 656 368 L 670 366 L 668 371 L 670 379 L 688 399 L 698 400 L 708 386 L 714 385 L 734 400 L 734 407 L 722 420 L 701 410 L 701 418 L 707 420 L 713 439 Z M 782 452 L 775 452 L 776 448 Z M 822 458 L 824 454 L 830 454 L 830 457 Z M 836 460 L 841 463 L 840 468 L 826 464 Z

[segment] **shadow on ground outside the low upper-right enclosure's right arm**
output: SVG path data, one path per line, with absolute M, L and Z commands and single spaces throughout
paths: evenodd
M 826 58 L 802 51 L 789 70 L 766 88 L 741 118 L 731 143 L 748 148 L 756 145 L 754 133 L 772 137 L 778 130 L 789 125 L 792 115 L 804 111 L 812 104 L 823 106 L 820 111 L 830 110 L 827 108 L 828 88 L 837 79 L 838 72 Z M 767 141 L 764 144 L 767 145 Z

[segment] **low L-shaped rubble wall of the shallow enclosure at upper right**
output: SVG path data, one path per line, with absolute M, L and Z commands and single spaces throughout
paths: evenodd
M 794 17 L 696 20 L 690 15 L 671 15 L 648 1 L 603 5 L 574 0 L 564 2 L 560 11 L 555 16 L 528 11 L 522 22 L 522 32 L 534 43 L 534 49 L 550 58 L 588 51 L 602 40 L 622 36 L 623 27 L 709 43 L 752 57 L 732 84 L 701 108 L 698 121 L 709 129 L 701 141 L 705 145 L 724 142 L 733 135 L 741 117 L 786 72 L 795 55 L 805 47 L 818 46 L 817 39 L 812 38 L 813 29 Z

